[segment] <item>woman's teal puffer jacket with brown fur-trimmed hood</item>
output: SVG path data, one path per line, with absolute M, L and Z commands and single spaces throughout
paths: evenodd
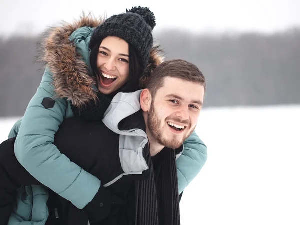
M 9 134 L 9 138 L 17 135 L 14 151 L 22 166 L 80 209 L 93 199 L 101 181 L 61 154 L 53 140 L 62 121 L 73 116 L 69 100 L 79 106 L 95 97 L 95 82 L 89 76 L 90 67 L 87 66 L 88 43 L 93 27 L 100 22 L 84 17 L 76 24 L 53 29 L 45 38 L 42 59 L 46 69 L 42 81 L 24 116 Z M 146 71 L 148 73 L 162 62 L 156 51 L 153 48 L 151 52 L 152 64 Z M 53 107 L 45 107 L 43 100 L 53 96 Z M 184 151 L 177 159 L 179 193 L 198 174 L 206 158 L 206 146 L 193 132 L 184 142 Z M 44 224 L 48 216 L 47 198 L 45 187 L 21 187 L 8 224 Z

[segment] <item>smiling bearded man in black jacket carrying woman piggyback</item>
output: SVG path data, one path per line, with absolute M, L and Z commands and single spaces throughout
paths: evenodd
M 154 70 L 148 88 L 118 93 L 102 121 L 65 119 L 54 144 L 102 185 L 84 210 L 50 192 L 46 224 L 180 224 L 175 160 L 195 129 L 205 88 L 195 65 L 170 60 Z M 17 163 L 13 143 L 0 145 L 1 190 L 40 185 Z

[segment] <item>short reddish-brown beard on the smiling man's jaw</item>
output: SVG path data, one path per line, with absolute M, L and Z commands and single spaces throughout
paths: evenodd
M 181 122 L 178 119 L 172 119 L 173 121 Z M 187 123 L 186 129 L 190 128 L 190 122 Z M 171 148 L 171 149 L 177 149 L 179 148 L 182 143 L 190 136 L 190 134 L 193 132 L 194 129 L 192 129 L 190 132 L 186 133 L 183 138 L 178 139 L 176 137 L 167 139 L 165 135 L 163 135 L 163 128 L 160 127 L 160 118 L 158 117 L 156 110 L 154 108 L 154 103 L 151 102 L 151 107 L 148 112 L 148 128 L 149 131 L 152 134 L 152 137 L 154 140 L 157 141 L 162 146 Z

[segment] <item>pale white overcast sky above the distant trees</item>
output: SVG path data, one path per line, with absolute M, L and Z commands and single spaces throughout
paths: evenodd
M 154 31 L 180 27 L 196 32 L 264 33 L 300 25 L 300 0 L 0 0 L 0 34 L 36 34 L 82 11 L 108 16 L 146 6 L 156 16 Z M 51 2 L 51 3 L 50 3 Z M 84 2 L 84 3 L 83 3 Z

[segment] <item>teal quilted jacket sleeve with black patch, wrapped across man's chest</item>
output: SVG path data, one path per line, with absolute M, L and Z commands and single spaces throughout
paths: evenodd
M 79 209 L 89 203 L 100 187 L 100 180 L 61 154 L 53 144 L 64 119 L 67 101 L 53 98 L 52 73 L 46 69 L 36 94 L 25 111 L 14 145 L 21 165 L 37 180 Z M 10 132 L 17 132 L 17 124 Z

